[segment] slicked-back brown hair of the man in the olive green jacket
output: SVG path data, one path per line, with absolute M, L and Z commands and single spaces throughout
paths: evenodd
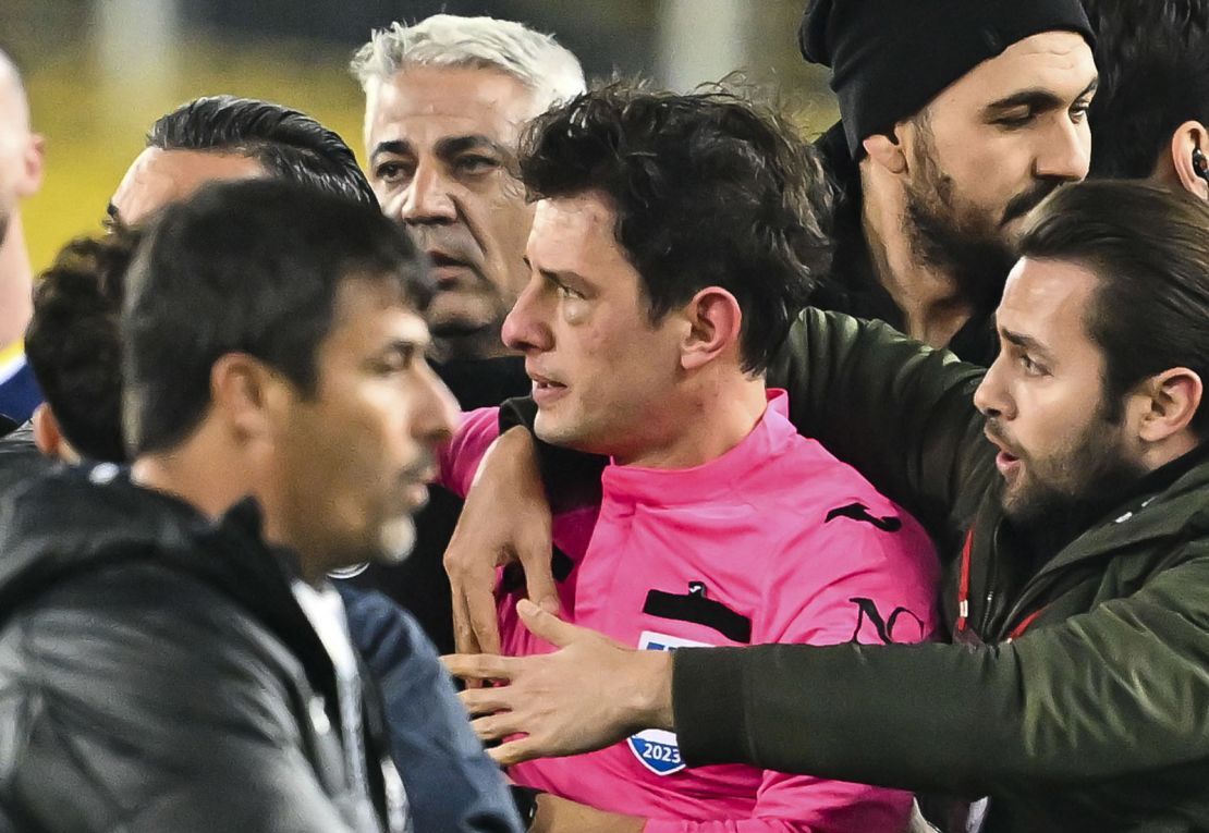
M 1209 204 L 1182 189 L 1104 180 L 1059 189 L 1037 212 L 1020 255 L 1075 262 L 1099 280 L 1084 318 L 1104 352 L 1110 417 L 1164 370 L 1209 382 Z M 1204 401 L 1192 428 L 1209 434 Z

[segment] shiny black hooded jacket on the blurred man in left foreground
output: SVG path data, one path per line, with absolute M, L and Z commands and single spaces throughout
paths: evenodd
M 354 782 L 291 577 L 251 502 L 210 523 L 109 464 L 8 493 L 0 831 L 403 829 L 381 712 Z

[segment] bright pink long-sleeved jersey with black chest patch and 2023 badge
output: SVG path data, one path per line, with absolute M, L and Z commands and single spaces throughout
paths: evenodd
M 650 650 L 767 642 L 919 642 L 936 626 L 939 567 L 919 523 L 786 418 L 783 392 L 752 433 L 692 469 L 611 464 L 598 508 L 554 519 L 563 618 Z M 465 415 L 442 452 L 464 494 L 498 435 Z M 553 650 L 520 623 L 502 574 L 505 654 Z M 803 692 L 803 698 L 811 696 Z M 906 827 L 910 794 L 746 765 L 684 768 L 672 733 L 513 767 L 517 782 L 648 818 L 648 833 L 869 833 Z

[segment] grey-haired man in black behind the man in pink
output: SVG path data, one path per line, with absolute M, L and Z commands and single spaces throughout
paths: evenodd
M 436 372 L 467 410 L 528 393 L 523 359 L 499 337 L 530 277 L 533 208 L 514 162 L 526 122 L 584 91 L 579 62 L 520 23 L 434 15 L 375 31 L 352 69 L 365 89 L 370 183 L 436 267 Z M 354 579 L 409 608 L 445 653 L 453 634 L 441 556 L 461 507 L 433 490 L 411 559 Z

